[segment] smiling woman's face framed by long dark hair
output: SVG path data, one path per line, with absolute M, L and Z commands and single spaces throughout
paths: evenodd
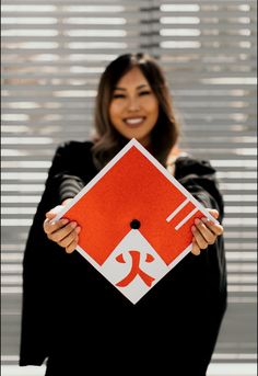
M 136 138 L 143 146 L 159 117 L 159 102 L 139 68 L 132 68 L 120 78 L 113 92 L 109 118 L 126 138 Z

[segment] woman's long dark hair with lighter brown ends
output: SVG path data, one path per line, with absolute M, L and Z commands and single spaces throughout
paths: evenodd
M 178 138 L 172 98 L 161 67 L 146 54 L 125 54 L 112 61 L 103 72 L 95 105 L 95 139 L 93 158 L 98 169 L 103 168 L 128 143 L 109 119 L 109 105 L 117 82 L 132 68 L 138 67 L 148 80 L 159 102 L 159 118 L 151 133 L 153 156 L 166 164 L 167 156 Z

